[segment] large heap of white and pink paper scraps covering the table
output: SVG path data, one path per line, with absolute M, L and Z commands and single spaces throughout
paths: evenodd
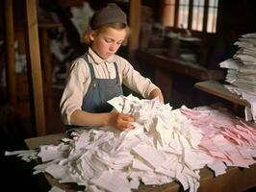
M 132 95 L 109 103 L 135 116 L 135 128 L 79 130 L 57 146 L 40 146 L 37 156 L 42 164 L 35 167 L 35 174 L 47 172 L 60 182 L 84 185 L 85 191 L 128 192 L 140 182 L 176 180 L 193 192 L 199 187 L 199 170 L 206 165 L 218 176 L 226 166 L 254 163 L 256 131 L 218 110 L 172 109 L 157 99 Z

